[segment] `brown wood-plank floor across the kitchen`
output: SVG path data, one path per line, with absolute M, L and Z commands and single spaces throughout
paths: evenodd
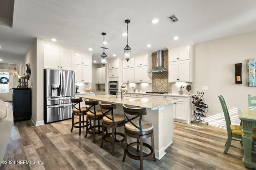
M 0 170 L 136 170 L 140 168 L 137 160 L 126 156 L 122 162 L 124 144 L 110 154 L 111 147 L 104 144 L 100 148 L 101 136 L 96 143 L 92 136 L 84 138 L 78 129 L 70 132 L 71 119 L 35 127 L 32 121 L 14 123 L 4 160 L 29 160 L 30 164 L 1 165 Z M 173 143 L 166 149 L 161 160 L 145 160 L 145 170 L 243 170 L 243 150 L 230 147 L 224 154 L 226 130 L 212 125 L 174 123 Z M 232 141 L 233 145 L 241 146 Z M 254 168 L 256 155 L 252 154 Z M 33 164 L 35 161 L 36 164 Z M 43 161 L 44 164 L 38 164 Z M 29 162 L 27 162 L 29 163 Z

